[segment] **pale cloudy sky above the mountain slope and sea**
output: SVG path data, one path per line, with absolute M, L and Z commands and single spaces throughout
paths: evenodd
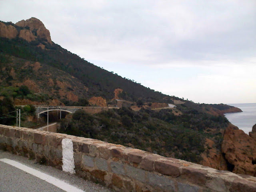
M 81 58 L 196 103 L 256 103 L 255 0 L 0 0 Z

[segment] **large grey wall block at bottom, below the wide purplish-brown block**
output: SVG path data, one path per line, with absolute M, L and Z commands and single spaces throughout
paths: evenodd
M 174 191 L 175 189 L 175 182 L 169 178 L 165 178 L 164 176 L 159 176 L 148 172 L 146 178 L 148 184 L 151 186 L 159 186 L 166 191 Z

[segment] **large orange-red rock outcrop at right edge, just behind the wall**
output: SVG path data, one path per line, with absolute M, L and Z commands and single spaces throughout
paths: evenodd
M 235 126 L 226 128 L 222 153 L 232 172 L 256 176 L 256 140 L 242 130 Z

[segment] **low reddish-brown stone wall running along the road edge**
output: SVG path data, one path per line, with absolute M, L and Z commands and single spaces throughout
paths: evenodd
M 100 140 L 0 125 L 0 148 L 46 162 L 60 170 L 64 169 L 62 162 L 66 161 L 63 141 L 71 143 L 71 172 L 116 191 L 256 191 L 256 178 L 252 176 L 215 170 Z

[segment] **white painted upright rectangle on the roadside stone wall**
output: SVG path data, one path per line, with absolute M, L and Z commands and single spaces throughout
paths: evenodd
M 73 142 L 71 139 L 63 139 L 62 145 L 62 170 L 74 174 L 75 164 L 74 164 L 74 151 Z

